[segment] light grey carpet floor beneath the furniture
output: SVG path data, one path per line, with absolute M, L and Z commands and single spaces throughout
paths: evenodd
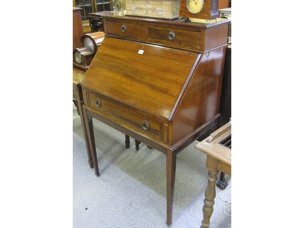
M 177 155 L 172 224 L 166 224 L 166 156 L 143 143 L 125 147 L 125 135 L 93 119 L 100 176 L 88 165 L 80 116 L 73 104 L 74 228 L 199 228 L 208 171 L 206 154 L 193 142 Z M 219 179 L 219 175 L 218 175 Z M 231 177 L 226 175 L 228 186 Z M 231 189 L 221 194 L 231 201 Z M 210 228 L 231 227 L 231 216 L 216 198 Z M 231 214 L 231 204 L 225 208 Z

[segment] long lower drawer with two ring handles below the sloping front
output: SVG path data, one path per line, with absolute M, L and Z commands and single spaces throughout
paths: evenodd
M 88 92 L 88 102 L 89 106 L 110 116 L 106 116 L 107 118 L 123 121 L 128 127 L 161 139 L 161 123 L 159 121 L 128 109 L 111 98 L 97 96 L 90 92 Z

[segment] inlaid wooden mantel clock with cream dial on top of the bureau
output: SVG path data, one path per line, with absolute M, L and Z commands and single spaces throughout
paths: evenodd
M 212 20 L 219 17 L 218 0 L 180 0 L 180 17 Z

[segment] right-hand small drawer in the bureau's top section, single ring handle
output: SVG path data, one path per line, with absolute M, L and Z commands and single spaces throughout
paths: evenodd
M 201 32 L 148 26 L 148 40 L 201 48 Z M 160 42 L 160 43 L 161 43 Z

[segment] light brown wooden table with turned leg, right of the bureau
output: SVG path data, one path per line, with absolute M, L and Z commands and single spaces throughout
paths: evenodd
M 207 154 L 206 168 L 209 175 L 205 191 L 202 226 L 200 228 L 209 228 L 216 196 L 216 175 L 219 171 L 231 175 L 231 120 L 208 138 L 196 144 L 195 148 Z

